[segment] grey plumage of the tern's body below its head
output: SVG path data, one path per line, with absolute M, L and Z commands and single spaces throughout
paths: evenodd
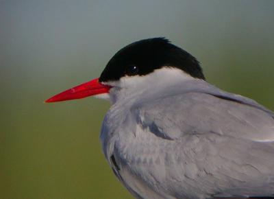
M 197 79 L 127 96 L 105 116 L 101 141 L 136 198 L 273 196 L 271 110 Z

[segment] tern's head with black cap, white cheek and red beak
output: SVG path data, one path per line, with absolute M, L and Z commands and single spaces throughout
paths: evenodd
M 131 95 L 149 87 L 193 78 L 205 80 L 195 57 L 171 44 L 166 38 L 149 38 L 119 50 L 110 59 L 100 78 L 54 95 L 45 102 L 94 95 L 114 103 L 121 93 Z

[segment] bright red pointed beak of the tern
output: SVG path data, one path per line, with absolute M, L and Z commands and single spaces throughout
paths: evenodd
M 101 84 L 99 78 L 80 84 L 71 89 L 63 91 L 53 97 L 49 98 L 45 102 L 60 102 L 65 100 L 75 100 L 88 97 L 91 95 L 98 95 L 102 93 L 108 93 L 111 89 L 111 86 Z

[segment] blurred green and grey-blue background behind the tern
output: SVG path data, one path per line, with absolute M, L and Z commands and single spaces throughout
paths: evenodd
M 108 102 L 44 104 L 165 36 L 207 80 L 274 110 L 274 1 L 0 0 L 0 198 L 132 198 L 99 143 Z

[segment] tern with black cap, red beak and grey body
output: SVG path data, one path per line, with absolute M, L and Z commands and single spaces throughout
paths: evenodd
M 103 154 L 135 198 L 274 197 L 274 113 L 208 83 L 164 37 L 120 49 L 99 78 L 45 102 L 110 101 Z

